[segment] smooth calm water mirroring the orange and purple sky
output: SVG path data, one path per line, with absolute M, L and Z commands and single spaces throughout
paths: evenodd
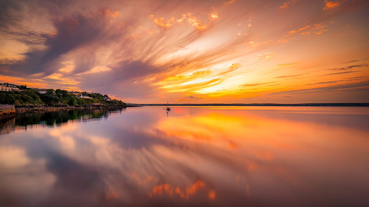
M 0 206 L 369 206 L 369 108 L 163 108 L 1 121 Z

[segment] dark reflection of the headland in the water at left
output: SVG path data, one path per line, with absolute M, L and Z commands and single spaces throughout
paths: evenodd
M 94 121 L 125 110 L 126 108 L 95 108 L 24 112 L 16 114 L 15 117 L 0 120 L 0 134 L 9 134 L 18 127 L 21 127 L 22 130 L 27 130 L 27 127 L 32 128 L 34 125 L 55 126 L 68 121 Z

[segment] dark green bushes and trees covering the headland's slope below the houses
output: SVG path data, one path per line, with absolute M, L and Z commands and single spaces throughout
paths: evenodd
M 85 105 L 103 105 L 103 106 L 127 106 L 122 101 L 103 99 L 101 94 L 86 94 L 93 99 L 77 98 L 74 94 L 61 89 L 48 89 L 45 94 L 39 94 L 35 90 L 25 90 L 21 92 L 0 92 L 0 104 L 15 105 L 41 105 L 41 106 L 85 106 Z M 108 97 L 107 95 L 105 95 Z

